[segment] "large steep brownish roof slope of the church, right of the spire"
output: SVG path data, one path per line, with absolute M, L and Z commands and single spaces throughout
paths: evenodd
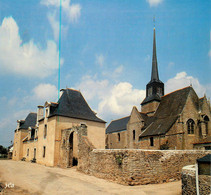
M 139 137 L 166 134 L 178 119 L 191 91 L 195 93 L 192 87 L 186 87 L 163 96 L 156 113 L 148 119 L 150 122 L 146 121 L 148 125 Z

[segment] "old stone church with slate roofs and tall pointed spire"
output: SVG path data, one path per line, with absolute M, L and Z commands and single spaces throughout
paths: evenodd
M 206 96 L 199 98 L 192 86 L 164 94 L 154 28 L 151 80 L 141 112 L 134 106 L 129 116 L 111 121 L 106 128 L 106 148 L 211 150 L 210 119 L 210 102 Z

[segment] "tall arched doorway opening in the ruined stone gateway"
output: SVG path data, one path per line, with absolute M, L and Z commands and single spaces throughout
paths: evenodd
M 69 137 L 69 167 L 78 165 L 78 137 L 74 131 Z

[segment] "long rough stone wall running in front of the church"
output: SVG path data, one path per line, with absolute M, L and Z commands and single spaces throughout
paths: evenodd
M 181 179 L 184 166 L 195 164 L 197 158 L 209 153 L 197 150 L 95 149 L 90 152 L 89 160 L 81 161 L 80 171 L 124 185 L 163 183 Z

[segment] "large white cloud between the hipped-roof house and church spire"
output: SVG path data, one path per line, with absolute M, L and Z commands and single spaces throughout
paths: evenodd
M 145 90 L 133 88 L 128 82 L 112 84 L 108 80 L 97 80 L 86 76 L 75 87 L 80 89 L 88 103 L 93 102 L 98 116 L 105 120 L 110 117 L 129 115 L 132 107 L 140 108 L 140 103 L 145 97 Z

